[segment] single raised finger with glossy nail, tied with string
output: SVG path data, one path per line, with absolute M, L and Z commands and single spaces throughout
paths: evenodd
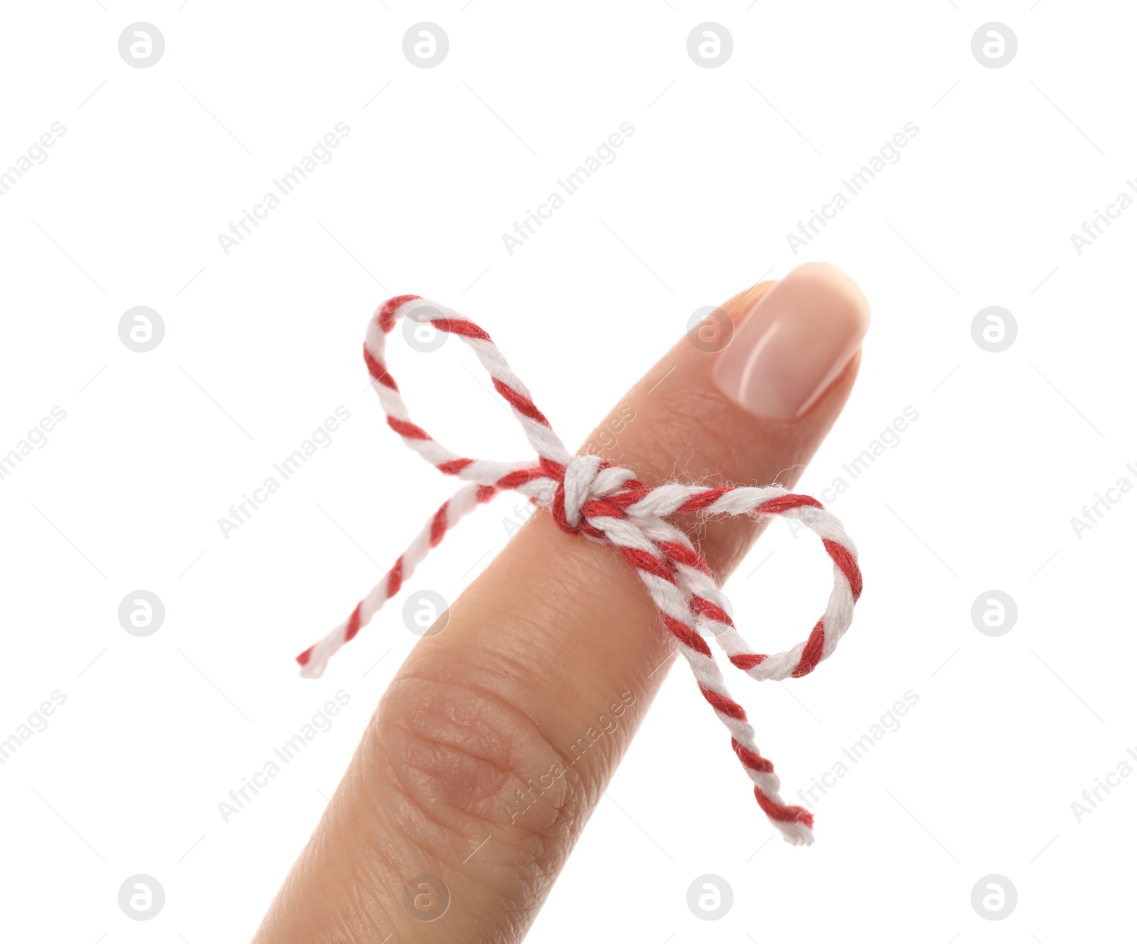
M 869 306 L 843 273 L 806 264 L 721 311 L 725 348 L 679 341 L 594 437 L 621 429 L 600 452 L 647 485 L 682 457 L 715 481 L 791 486 L 848 396 Z M 696 524 L 720 583 L 761 529 Z M 520 941 L 673 649 L 613 548 L 533 515 L 407 658 L 255 944 Z M 614 732 L 563 753 L 605 713 Z

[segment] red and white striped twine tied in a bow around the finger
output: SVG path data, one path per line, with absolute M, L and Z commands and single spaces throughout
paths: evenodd
M 410 421 L 399 389 L 387 369 L 387 335 L 400 318 L 429 321 L 437 331 L 457 335 L 489 371 L 493 386 L 525 431 L 538 460 L 495 462 L 466 459 L 450 452 Z M 737 668 L 755 679 L 799 678 L 828 659 L 853 620 L 861 595 L 856 549 L 840 523 L 808 495 L 795 495 L 777 485 L 765 487 L 686 485 L 669 482 L 649 488 L 631 469 L 608 465 L 596 456 L 571 456 L 529 390 L 509 369 L 490 336 L 473 321 L 418 295 L 397 295 L 380 306 L 367 325 L 364 360 L 387 412 L 387 423 L 402 441 L 446 475 L 468 484 L 434 512 L 410 546 L 351 615 L 323 640 L 297 657 L 300 674 L 319 677 L 327 660 L 367 625 L 384 602 L 463 517 L 498 492 L 514 490 L 547 508 L 559 527 L 572 534 L 614 545 L 644 582 L 666 629 L 687 659 L 699 693 L 731 735 L 731 746 L 754 782 L 754 796 L 770 821 L 790 843 L 813 842 L 813 816 L 786 804 L 773 765 L 758 752 L 754 729 L 719 671 L 706 637 L 713 638 Z M 796 518 L 821 537 L 833 561 L 833 590 L 824 615 L 808 640 L 786 652 L 755 652 L 735 628 L 703 555 L 687 535 L 669 521 L 677 512 L 706 517 L 722 515 Z

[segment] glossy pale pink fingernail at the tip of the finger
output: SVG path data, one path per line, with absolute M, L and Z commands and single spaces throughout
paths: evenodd
M 717 356 L 717 387 L 767 419 L 800 416 L 837 378 L 869 329 L 869 300 L 845 273 L 805 262 L 766 292 Z

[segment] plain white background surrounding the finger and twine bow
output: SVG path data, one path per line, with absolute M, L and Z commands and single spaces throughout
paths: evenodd
M 1137 494 L 1080 537 L 1071 517 L 1137 483 L 1137 211 L 1080 256 L 1070 239 L 1137 174 L 1131 10 L 89 0 L 2 17 L 0 166 L 53 122 L 66 134 L 0 198 L 0 451 L 55 406 L 66 419 L 0 481 L 0 737 L 51 692 L 66 702 L 0 766 L 0 936 L 255 929 L 415 637 L 392 605 L 319 682 L 292 657 L 453 486 L 365 390 L 383 298 L 416 292 L 483 325 L 572 446 L 695 309 L 806 259 L 852 274 L 873 324 L 799 490 L 820 493 L 905 407 L 919 419 L 833 504 L 866 586 L 840 651 L 803 680 L 732 684 L 789 797 L 905 691 L 919 703 L 816 804 L 818 843 L 792 849 L 674 671 L 532 939 L 1131 935 L 1137 777 L 1080 822 L 1071 803 L 1137 745 Z M 118 53 L 138 20 L 165 36 L 150 68 Z M 422 20 L 449 36 L 435 68 L 401 51 Z M 720 68 L 688 57 L 704 20 L 732 34 Z M 1018 35 L 1004 68 L 971 53 L 990 20 Z M 338 122 L 333 159 L 225 254 L 218 233 Z M 501 234 L 622 122 L 636 131 L 615 162 L 511 256 Z M 795 256 L 786 234 L 906 122 L 902 159 Z M 971 335 L 993 304 L 1018 323 L 1002 353 Z M 118 337 L 134 306 L 165 323 L 149 353 Z M 525 457 L 459 345 L 395 345 L 428 429 Z M 333 444 L 224 537 L 218 517 L 338 406 L 351 418 Z M 405 496 L 385 501 L 395 485 Z M 512 513 L 505 498 L 482 509 L 412 586 L 454 599 Z M 779 527 L 727 592 L 775 649 L 806 635 L 828 579 Z M 117 618 L 139 588 L 166 609 L 144 638 Z M 991 588 L 1019 608 L 1001 637 L 970 617 Z M 218 802 L 339 690 L 332 730 L 224 822 Z M 147 922 L 116 897 L 139 872 L 166 893 Z M 713 922 L 686 902 L 708 872 L 735 895 Z M 1006 920 L 972 909 L 988 874 L 1018 888 Z

